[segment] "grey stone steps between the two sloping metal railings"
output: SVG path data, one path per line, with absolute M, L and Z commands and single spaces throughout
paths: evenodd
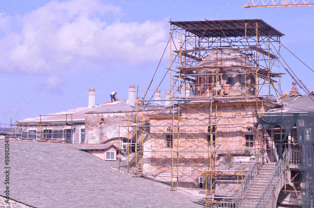
M 255 176 L 250 188 L 247 190 L 243 200 L 258 200 L 258 196 L 263 191 L 269 177 L 272 175 L 276 164 L 263 164 L 259 169 L 259 173 Z

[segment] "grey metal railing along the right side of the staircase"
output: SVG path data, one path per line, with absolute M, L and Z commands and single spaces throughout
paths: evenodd
M 276 165 L 276 168 L 273 171 L 273 174 L 269 177 L 262 193 L 258 197 L 256 208 L 263 208 L 268 201 L 269 196 L 273 192 L 273 189 L 277 185 L 277 182 L 286 168 L 286 159 L 287 159 L 287 150 L 284 151 L 281 159 Z

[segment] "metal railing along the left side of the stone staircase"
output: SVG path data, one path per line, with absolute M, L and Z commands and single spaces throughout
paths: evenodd
M 234 194 L 235 199 L 234 200 L 222 199 L 212 207 L 215 207 L 215 208 L 216 207 L 232 207 L 232 208 L 233 207 L 246 207 L 246 208 L 254 207 L 257 203 L 256 201 L 243 200 L 243 197 L 246 194 L 247 190 L 250 188 L 252 181 L 254 180 L 255 176 L 258 173 L 259 164 L 263 163 L 263 156 L 264 156 L 264 151 L 261 150 L 256 160 L 251 165 L 250 169 L 247 171 L 239 189 Z

